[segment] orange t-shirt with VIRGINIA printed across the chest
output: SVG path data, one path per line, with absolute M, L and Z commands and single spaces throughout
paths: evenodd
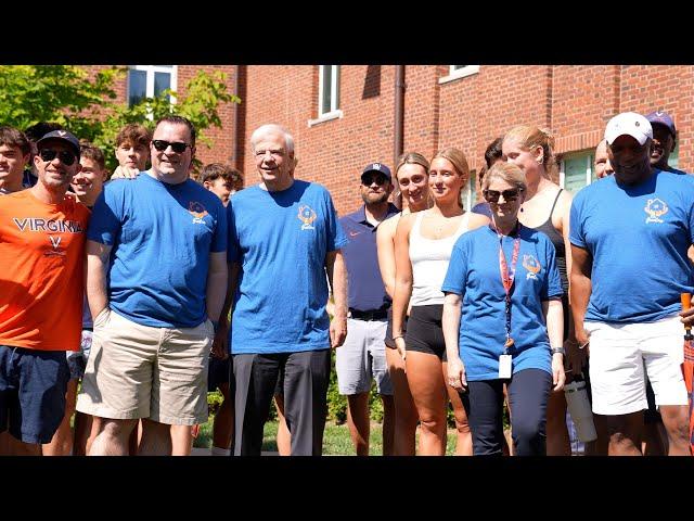
M 0 195 L 0 345 L 79 350 L 89 209 Z

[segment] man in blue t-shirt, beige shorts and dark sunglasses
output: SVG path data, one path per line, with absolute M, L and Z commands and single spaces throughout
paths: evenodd
M 187 454 L 171 425 L 207 421 L 207 364 L 227 285 L 227 216 L 189 178 L 195 128 L 159 119 L 152 168 L 107 183 L 87 232 L 92 348 L 77 410 L 102 418 L 90 455 Z M 189 429 L 190 430 L 190 429 Z

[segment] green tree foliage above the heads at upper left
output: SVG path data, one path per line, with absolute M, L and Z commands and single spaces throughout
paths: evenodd
M 113 66 L 95 75 L 75 65 L 0 65 L 0 124 L 25 129 L 38 122 L 56 122 L 80 139 L 101 147 L 106 166 L 117 164 L 112 153 L 118 130 L 128 123 L 153 128 L 168 114 L 189 118 L 197 130 L 197 147 L 211 145 L 205 130 L 221 127 L 223 103 L 241 100 L 227 88 L 222 72 L 200 71 L 185 86 L 184 96 L 165 90 L 137 105 L 116 103 L 114 82 L 124 79 L 126 67 Z M 170 97 L 176 103 L 170 103 Z M 194 165 L 200 167 L 200 162 Z

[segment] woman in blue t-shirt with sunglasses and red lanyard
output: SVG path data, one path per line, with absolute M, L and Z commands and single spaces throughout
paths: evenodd
M 518 221 L 526 189 L 517 166 L 490 168 L 492 224 L 455 242 L 441 288 L 448 383 L 470 393 L 474 455 L 502 454 L 504 384 L 516 454 L 545 455 L 550 390 L 564 386 L 563 290 L 554 246 Z

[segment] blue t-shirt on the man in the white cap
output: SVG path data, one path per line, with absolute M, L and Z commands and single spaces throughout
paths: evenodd
M 653 322 L 694 290 L 694 176 L 655 170 L 638 185 L 605 177 L 571 204 L 571 244 L 592 256 L 586 321 Z

